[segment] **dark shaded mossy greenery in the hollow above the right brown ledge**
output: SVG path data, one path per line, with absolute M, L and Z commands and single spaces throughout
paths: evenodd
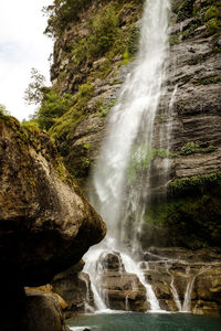
M 145 215 L 146 224 L 157 236 L 162 233 L 168 246 L 219 247 L 220 193 L 220 190 L 213 189 L 207 193 L 193 193 L 151 204 Z

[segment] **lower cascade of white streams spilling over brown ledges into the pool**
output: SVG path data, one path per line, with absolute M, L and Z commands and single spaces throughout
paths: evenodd
M 94 292 L 94 306 L 85 302 L 85 312 L 198 313 L 198 298 L 208 297 L 204 287 L 212 281 L 211 291 L 219 291 L 215 275 L 219 278 L 221 263 L 206 254 L 202 249 L 192 261 L 193 253 L 183 248 L 150 248 L 137 263 L 124 252 L 95 247 L 85 259 Z

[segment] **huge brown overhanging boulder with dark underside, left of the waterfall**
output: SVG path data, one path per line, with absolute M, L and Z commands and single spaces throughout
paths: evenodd
M 104 237 L 106 227 L 66 172 L 49 136 L 21 127 L 11 117 L 0 119 L 0 182 L 3 319 L 10 320 L 13 300 L 17 312 L 21 310 L 19 323 L 27 302 L 33 299 L 25 298 L 22 287 L 46 284 L 77 263 Z M 33 299 L 43 306 L 44 300 L 52 301 Z M 50 308 L 50 316 L 56 314 L 55 310 Z M 50 330 L 62 330 L 59 319 L 57 314 L 56 325 Z

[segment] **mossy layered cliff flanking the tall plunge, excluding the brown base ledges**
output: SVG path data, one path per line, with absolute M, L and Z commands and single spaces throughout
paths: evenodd
M 106 115 L 133 66 L 141 15 L 141 2 L 123 1 L 119 4 L 118 1 L 97 1 L 96 4 L 88 6 L 56 41 L 52 66 L 54 87 L 62 93 L 75 94 L 76 99 L 72 109 L 50 131 L 60 141 L 67 168 L 83 186 L 106 135 Z M 92 30 L 88 20 L 93 25 L 93 22 L 101 20 L 101 15 L 106 14 L 109 6 L 113 6 L 117 17 L 114 41 L 102 55 L 97 53 L 93 57 L 88 51 L 87 57 L 81 62 L 76 41 L 90 41 Z M 159 130 L 164 131 L 172 125 L 170 185 L 165 202 L 165 192 L 160 191 L 161 184 L 155 177 L 152 204 L 141 239 L 144 247 L 152 244 L 219 246 L 220 3 L 215 0 L 172 1 L 170 23 L 168 92 L 161 99 L 155 122 L 156 149 L 159 148 Z M 119 43 L 124 47 L 119 47 Z M 172 115 L 168 116 L 175 88 Z M 167 146 L 165 148 L 168 149 Z M 164 157 L 152 161 L 154 174 L 160 167 L 160 158 Z M 168 236 L 168 232 L 172 236 Z M 159 237 L 161 241 L 158 241 Z

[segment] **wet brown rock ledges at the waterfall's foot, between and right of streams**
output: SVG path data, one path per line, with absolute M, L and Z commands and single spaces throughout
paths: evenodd
M 103 254 L 98 264 L 97 289 L 109 309 L 151 309 L 149 292 L 140 282 L 143 275 L 161 310 L 221 317 L 220 249 L 151 248 L 138 263 L 139 275 L 126 271 L 118 252 Z M 91 289 L 90 296 L 93 298 Z M 91 305 L 97 309 L 95 301 Z

